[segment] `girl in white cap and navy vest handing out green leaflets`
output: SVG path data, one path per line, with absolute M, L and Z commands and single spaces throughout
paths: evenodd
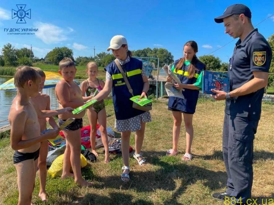
M 132 58 L 131 52 L 128 50 L 128 43 L 124 36 L 114 36 L 110 41 L 107 51 L 112 50 L 116 57 L 105 70 L 106 83 L 103 90 L 92 99 L 102 100 L 112 89 L 113 104 L 115 110 L 115 128 L 121 132 L 122 137 L 122 156 L 124 166 L 121 179 L 123 182 L 129 181 L 129 137 L 131 132 L 135 135 L 135 153 L 133 157 L 138 164 L 144 166 L 146 160 L 142 157 L 141 147 L 145 135 L 146 122 L 151 121 L 149 111 L 141 111 L 132 107 L 133 102 L 129 100 L 133 95 L 141 95 L 147 97 L 146 93 L 149 89 L 149 82 L 142 69 L 142 61 Z M 125 73 L 132 90 L 128 89 L 122 73 Z

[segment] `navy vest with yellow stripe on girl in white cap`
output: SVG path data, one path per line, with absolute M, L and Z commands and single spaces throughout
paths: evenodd
M 142 61 L 132 57 L 128 63 L 122 65 L 134 96 L 141 95 L 143 90 L 142 67 Z M 129 93 L 124 78 L 115 62 L 112 61 L 107 65 L 105 70 L 112 76 L 112 98 L 116 119 L 129 119 L 144 113 L 145 111 L 132 107 L 133 102 L 129 100 L 132 95 Z

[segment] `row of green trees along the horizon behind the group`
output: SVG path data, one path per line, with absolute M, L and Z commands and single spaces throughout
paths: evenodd
M 268 39 L 268 43 L 272 48 L 272 55 L 274 56 L 274 34 Z M 159 67 L 163 67 L 165 64 L 172 64 L 174 62 L 174 56 L 165 48 L 144 48 L 140 50 L 133 50 L 132 55 L 136 57 L 154 57 L 159 58 Z M 56 47 L 48 52 L 45 56 L 47 61 L 50 61 L 54 65 L 58 65 L 64 57 L 72 58 L 76 65 L 85 66 L 89 61 L 95 61 L 98 66 L 105 67 L 115 57 L 106 52 L 100 52 L 94 56 L 78 56 L 74 59 L 73 50 L 67 47 Z M 228 62 L 222 62 L 219 57 L 214 55 L 203 55 L 199 56 L 198 59 L 207 65 L 207 70 L 214 71 L 227 71 Z M 33 62 L 37 62 L 40 59 L 33 55 L 33 52 L 28 48 L 16 49 L 11 44 L 5 44 L 2 48 L 2 55 L 0 55 L 0 66 L 18 66 L 18 65 L 29 65 Z M 156 66 L 158 60 L 150 59 Z M 41 62 L 42 63 L 42 62 Z M 269 73 L 274 73 L 274 57 L 272 57 Z M 269 84 L 274 84 L 274 75 L 270 75 Z M 274 85 L 272 85 L 274 86 Z

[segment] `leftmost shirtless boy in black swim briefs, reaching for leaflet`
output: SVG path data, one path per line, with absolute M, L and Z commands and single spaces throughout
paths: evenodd
M 13 163 L 17 172 L 18 204 L 29 205 L 34 189 L 40 144 L 47 139 L 54 139 L 59 134 L 59 130 L 54 129 L 41 135 L 38 117 L 46 118 L 68 113 L 72 108 L 58 111 L 36 109 L 30 97 L 38 94 L 41 76 L 30 67 L 23 66 L 16 70 L 14 84 L 17 95 L 8 117 L 11 124 L 11 148 L 15 150 Z

